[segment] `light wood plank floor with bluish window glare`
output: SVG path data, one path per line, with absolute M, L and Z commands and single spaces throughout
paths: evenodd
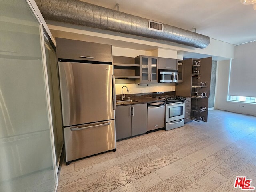
M 242 191 L 234 188 L 236 176 L 256 187 L 256 117 L 212 110 L 207 123 L 122 140 L 116 152 L 63 163 L 58 192 Z

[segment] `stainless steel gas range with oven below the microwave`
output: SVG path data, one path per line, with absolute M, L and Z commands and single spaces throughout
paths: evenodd
M 156 96 L 166 100 L 166 131 L 184 126 L 185 97 L 182 96 Z

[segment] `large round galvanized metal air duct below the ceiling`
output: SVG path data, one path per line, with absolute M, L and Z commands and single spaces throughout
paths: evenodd
M 210 38 L 205 35 L 79 0 L 35 0 L 35 2 L 46 20 L 153 38 L 196 48 L 206 48 L 210 43 Z

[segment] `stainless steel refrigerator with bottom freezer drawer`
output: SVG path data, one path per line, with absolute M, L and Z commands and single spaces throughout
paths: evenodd
M 58 62 L 66 164 L 116 150 L 113 66 Z

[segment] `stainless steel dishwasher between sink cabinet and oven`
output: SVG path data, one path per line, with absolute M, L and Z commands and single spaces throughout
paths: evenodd
M 147 130 L 155 130 L 164 127 L 165 101 L 148 103 L 148 126 Z

